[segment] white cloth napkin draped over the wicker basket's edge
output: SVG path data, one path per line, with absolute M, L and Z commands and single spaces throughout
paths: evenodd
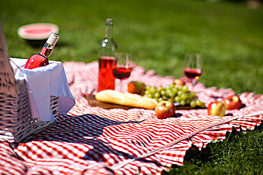
M 42 121 L 55 119 L 50 109 L 50 96 L 59 97 L 58 112 L 66 114 L 74 105 L 75 99 L 70 92 L 64 67 L 59 61 L 49 60 L 49 64 L 34 69 L 23 66 L 27 59 L 11 58 L 15 77 L 18 80 L 26 79 L 28 85 L 29 102 L 33 118 Z

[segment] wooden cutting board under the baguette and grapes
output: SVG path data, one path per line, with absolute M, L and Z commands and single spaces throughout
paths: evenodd
M 132 106 L 125 106 L 125 105 L 119 105 L 119 104 L 101 102 L 101 101 L 98 101 L 98 100 L 95 98 L 95 95 L 86 95 L 85 98 L 88 100 L 89 104 L 90 104 L 92 107 L 99 106 L 99 107 L 102 107 L 102 108 L 105 108 L 105 109 L 112 109 L 112 108 L 130 109 L 130 108 L 134 108 L 134 107 L 132 107 Z M 178 105 L 178 106 L 176 106 L 176 109 L 177 109 L 177 110 L 180 110 L 180 109 L 188 109 L 188 110 L 189 110 L 189 109 L 197 109 L 197 107 L 191 108 L 190 106 L 181 106 L 181 105 Z

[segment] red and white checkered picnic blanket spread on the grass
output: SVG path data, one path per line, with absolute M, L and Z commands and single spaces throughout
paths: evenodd
M 161 174 L 172 164 L 182 165 L 186 150 L 224 139 L 232 126 L 253 129 L 263 117 L 263 95 L 241 93 L 246 105 L 227 110 L 232 116 L 209 116 L 206 109 L 177 110 L 178 117 L 158 119 L 154 110 L 91 107 L 81 92 L 96 93 L 98 62 L 65 62 L 76 105 L 58 115 L 56 125 L 18 146 L 0 142 L 0 174 Z M 166 86 L 172 76 L 158 76 L 136 66 L 129 80 Z M 119 90 L 119 81 L 116 89 Z M 95 90 L 95 91 L 94 91 Z M 208 105 L 234 93 L 232 89 L 198 83 L 193 89 Z

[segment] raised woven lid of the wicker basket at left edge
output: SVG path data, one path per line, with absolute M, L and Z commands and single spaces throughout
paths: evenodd
M 17 95 L 14 70 L 10 64 L 5 35 L 0 21 L 0 93 Z

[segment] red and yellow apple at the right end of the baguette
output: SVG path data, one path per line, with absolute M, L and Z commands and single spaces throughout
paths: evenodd
M 174 115 L 175 106 L 171 101 L 163 100 L 155 105 L 154 110 L 157 118 L 164 119 Z

